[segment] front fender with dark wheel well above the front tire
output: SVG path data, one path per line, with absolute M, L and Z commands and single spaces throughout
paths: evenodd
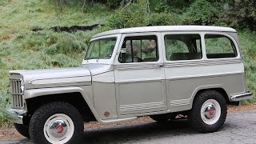
M 90 101 L 90 98 L 80 87 L 74 86 L 27 90 L 25 98 L 28 116 L 31 116 L 39 106 L 42 106 L 45 103 L 67 102 L 78 109 L 85 121 L 94 121 L 95 119 L 101 121 L 96 110 L 94 110 L 93 102 Z

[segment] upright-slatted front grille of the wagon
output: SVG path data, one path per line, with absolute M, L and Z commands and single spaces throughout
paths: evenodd
M 11 94 L 13 95 L 13 108 L 21 108 L 24 106 L 22 100 L 22 81 L 11 79 Z

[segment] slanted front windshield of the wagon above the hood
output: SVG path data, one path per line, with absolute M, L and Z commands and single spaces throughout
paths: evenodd
M 116 40 L 116 38 L 104 38 L 90 42 L 85 59 L 111 58 Z

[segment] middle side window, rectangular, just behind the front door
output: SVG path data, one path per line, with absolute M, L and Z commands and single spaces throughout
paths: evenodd
M 198 34 L 166 35 L 167 61 L 201 59 L 201 38 Z

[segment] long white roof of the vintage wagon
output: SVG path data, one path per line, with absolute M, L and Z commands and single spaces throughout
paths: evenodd
M 145 32 L 164 32 L 164 31 L 221 31 L 237 32 L 229 27 L 221 26 L 143 26 L 126 29 L 108 30 L 94 35 L 93 38 L 110 34 L 128 34 L 128 33 L 145 33 Z

